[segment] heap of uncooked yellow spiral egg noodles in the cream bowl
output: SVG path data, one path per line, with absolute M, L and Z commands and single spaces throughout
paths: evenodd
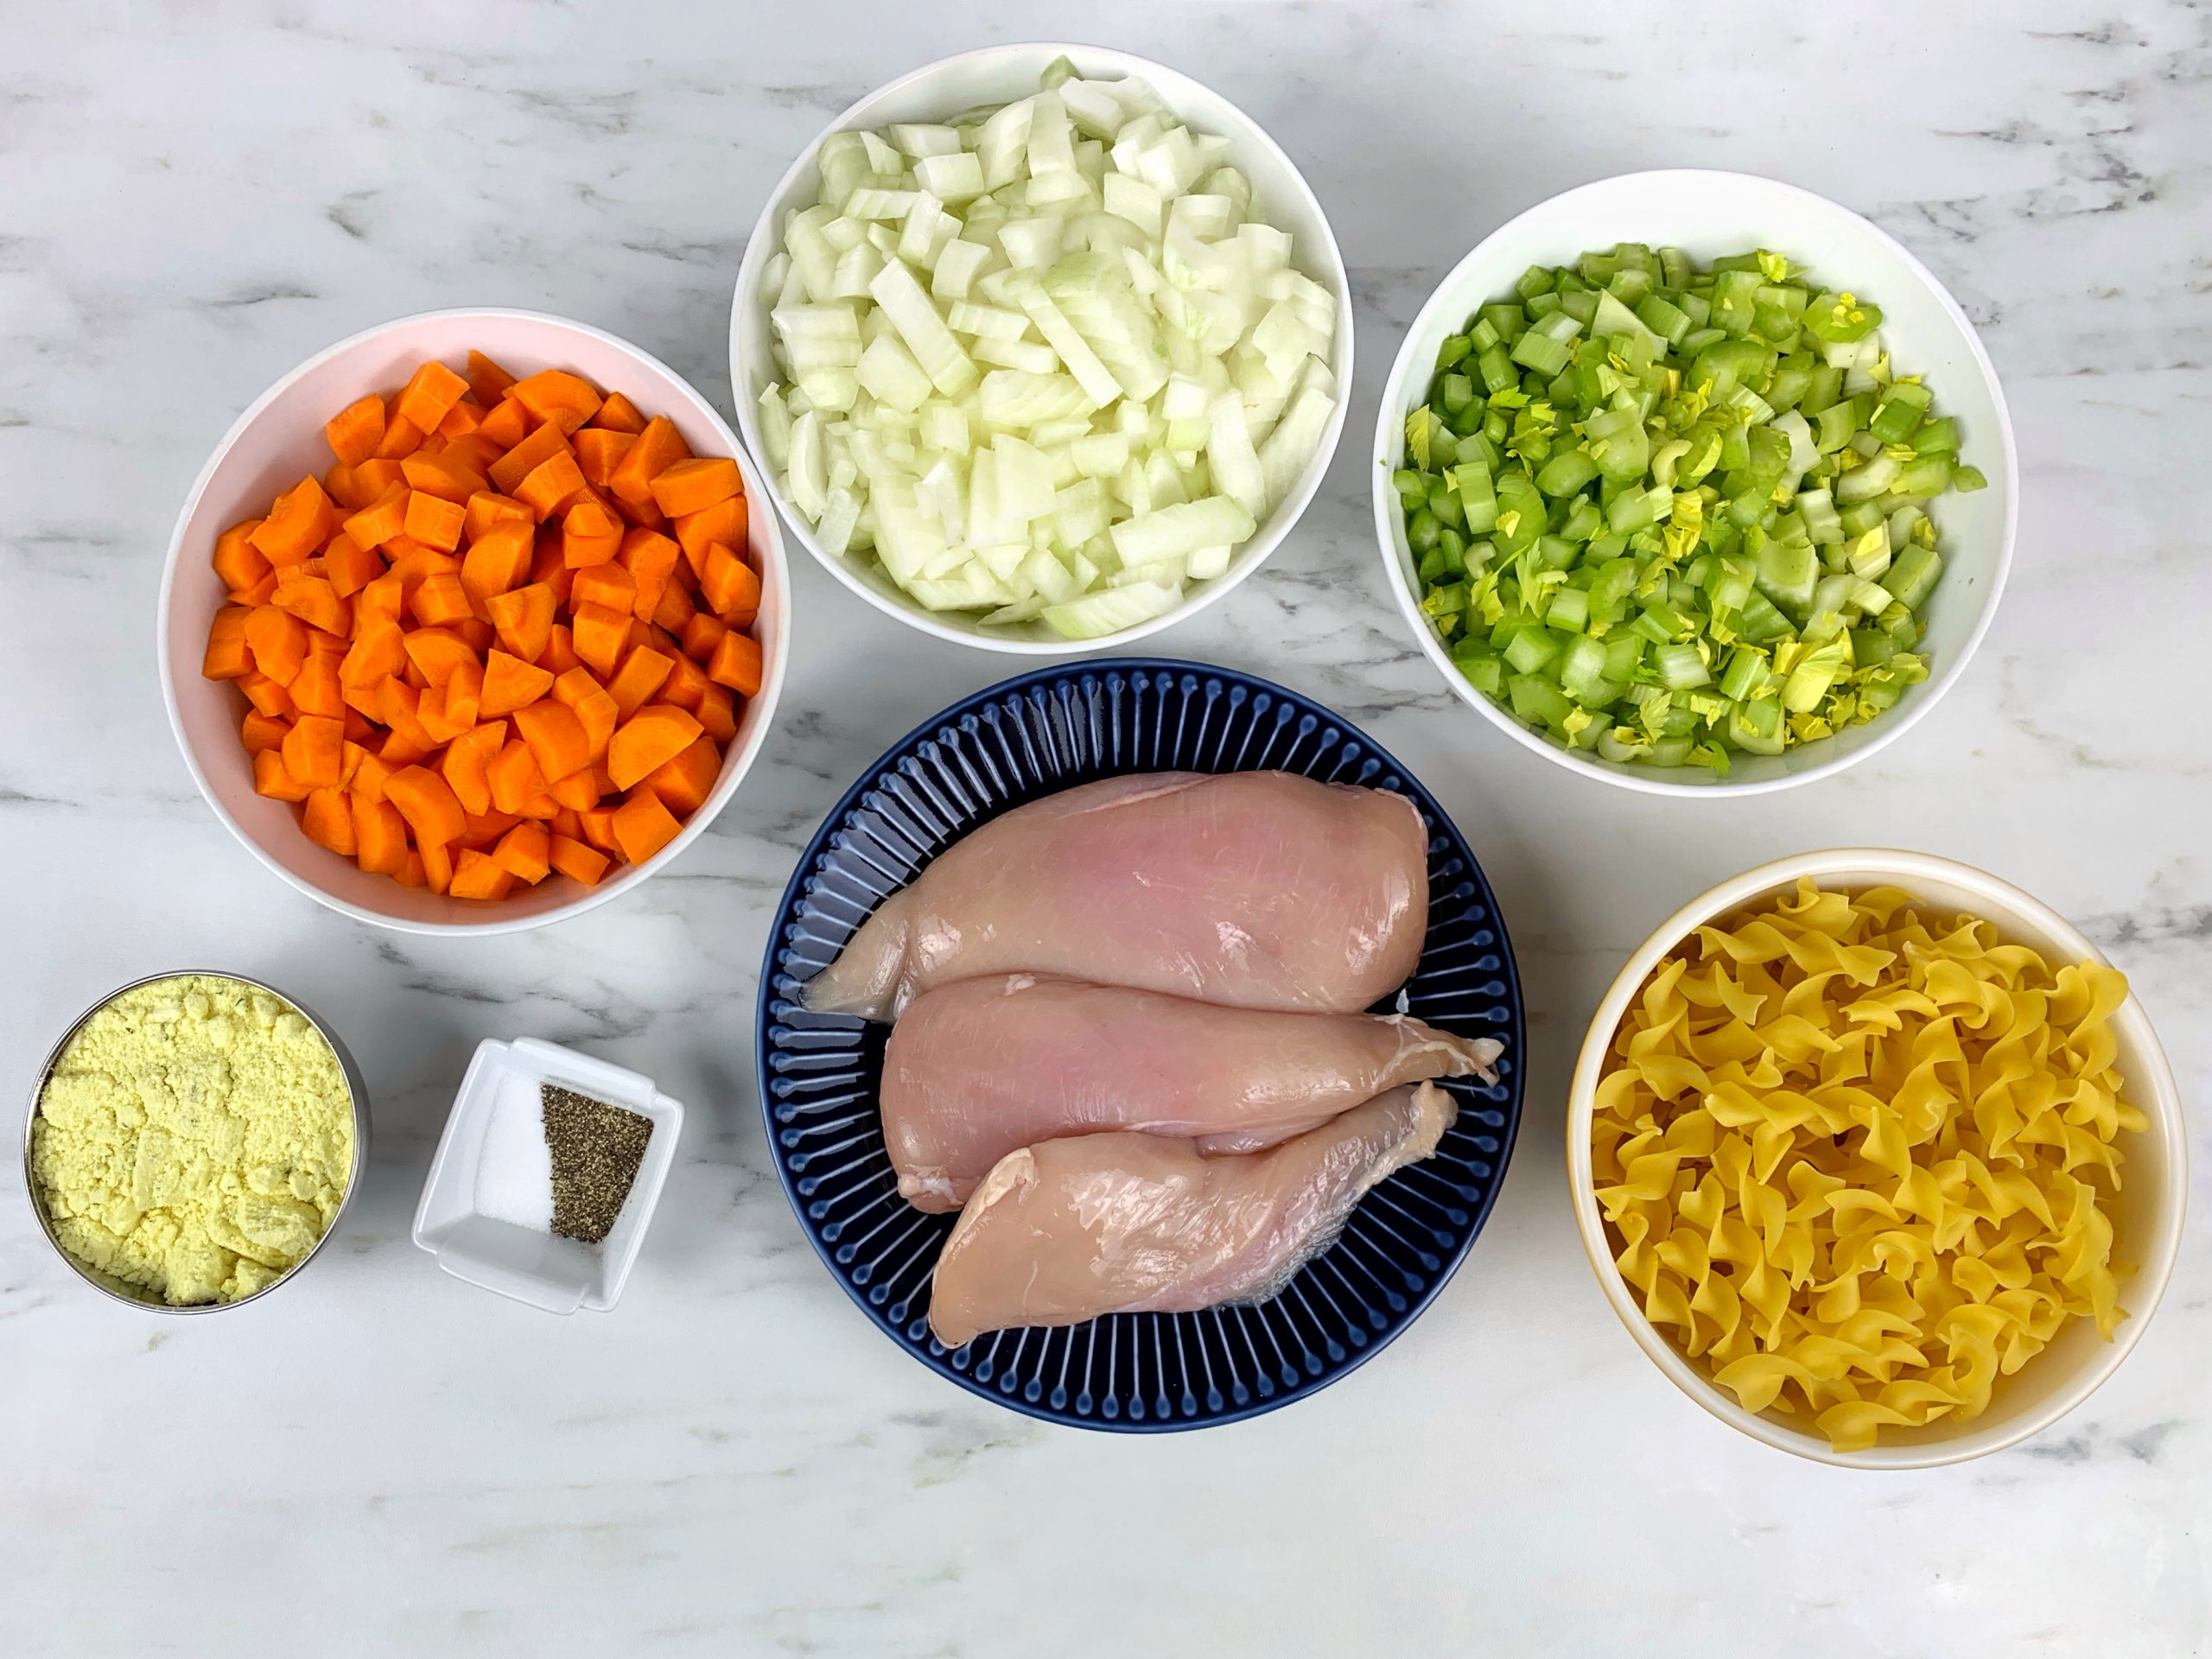
M 1838 1451 L 1980 1416 L 2075 1316 L 2126 1318 L 2112 1221 L 2128 980 L 1896 887 L 1798 885 L 1659 964 L 1590 1166 L 1646 1318 Z

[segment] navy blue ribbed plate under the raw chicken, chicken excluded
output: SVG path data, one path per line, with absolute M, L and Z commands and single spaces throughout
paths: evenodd
M 1498 1037 L 1500 1082 L 1449 1082 L 1436 1157 L 1378 1183 L 1338 1241 L 1274 1298 L 1199 1314 L 1110 1314 L 1064 1329 L 929 1334 L 929 1279 L 956 1217 L 898 1197 L 876 1088 L 889 1026 L 807 1013 L 796 993 L 922 865 L 980 823 L 1126 772 L 1301 772 L 1396 790 L 1429 825 L 1429 936 L 1402 1006 Z M 931 1371 L 1033 1418 L 1172 1431 L 1234 1422 L 1327 1387 L 1413 1323 L 1498 1199 L 1522 1106 L 1513 949 L 1467 841 L 1405 768 L 1327 708 L 1201 664 L 1042 668 L 914 728 L 814 834 L 768 940 L 757 1031 L 768 1141 L 799 1223 L 845 1294 Z

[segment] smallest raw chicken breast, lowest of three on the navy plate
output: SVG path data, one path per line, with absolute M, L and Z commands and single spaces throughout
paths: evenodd
M 1394 1088 L 1252 1157 L 1164 1135 L 1077 1135 L 1009 1152 L 938 1256 L 929 1327 L 947 1347 L 1013 1325 L 1265 1301 L 1376 1181 L 1418 1164 L 1458 1106 Z

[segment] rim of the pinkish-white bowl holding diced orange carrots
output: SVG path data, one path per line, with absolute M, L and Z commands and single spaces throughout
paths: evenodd
M 232 836 L 237 836 L 237 841 L 261 863 L 263 869 L 274 872 L 285 880 L 285 885 L 316 900 L 325 909 L 338 911 L 341 916 L 352 916 L 354 920 L 369 922 L 374 927 L 387 927 L 396 933 L 420 933 L 434 938 L 526 933 L 533 927 L 551 927 L 553 922 L 564 922 L 573 916 L 582 916 L 588 909 L 597 909 L 599 905 L 606 905 L 608 900 L 619 898 L 633 891 L 635 887 L 641 887 L 646 880 L 659 874 L 668 865 L 668 860 L 677 858 L 706 832 L 706 827 L 730 803 L 730 796 L 737 792 L 737 785 L 743 783 L 745 774 L 759 761 L 761 750 L 768 745 L 770 728 L 774 726 L 776 719 L 776 703 L 783 695 L 783 675 L 790 666 L 790 655 L 792 655 L 790 564 L 783 555 L 783 529 L 776 524 L 776 515 L 768 513 L 763 515 L 768 524 L 765 540 L 768 540 L 768 564 L 770 564 L 770 571 L 765 575 L 770 575 L 776 582 L 776 593 L 783 595 L 783 604 L 779 611 L 781 626 L 776 630 L 776 639 L 763 641 L 772 646 L 765 653 L 768 679 L 763 681 L 759 697 L 750 699 L 761 710 L 759 730 L 750 750 L 737 759 L 734 768 L 730 768 L 726 761 L 726 776 L 721 776 L 714 783 L 714 792 L 708 796 L 706 805 L 699 807 L 699 812 L 695 812 L 684 823 L 684 827 L 675 834 L 675 838 L 657 854 L 653 854 L 646 863 L 637 865 L 630 872 L 624 872 L 624 876 L 611 876 L 608 880 L 602 880 L 597 887 L 586 887 L 575 898 L 555 905 L 551 909 L 538 911 L 533 916 L 487 914 L 484 920 L 453 920 L 453 922 L 385 916 L 383 911 L 356 905 L 347 898 L 338 898 L 319 883 L 312 883 L 305 876 L 288 869 L 276 858 L 272 858 L 270 852 L 261 847 L 261 843 L 254 841 L 252 834 L 246 832 L 246 825 L 241 825 L 230 814 L 230 810 L 217 799 L 215 787 L 199 763 L 199 754 L 192 750 L 192 741 L 186 734 L 184 706 L 177 697 L 177 677 L 168 644 L 168 613 L 177 588 L 177 573 L 184 564 L 186 533 L 190 531 L 192 520 L 199 515 L 208 487 L 215 482 L 215 473 L 230 456 L 232 447 L 268 411 L 268 407 L 279 396 L 283 396 L 292 385 L 296 385 L 303 376 L 323 367 L 338 354 L 349 352 L 385 334 L 398 334 L 409 327 L 418 327 L 422 323 L 445 323 L 462 319 L 518 321 L 531 325 L 546 325 L 568 334 L 582 334 L 586 338 L 599 341 L 602 345 L 615 347 L 617 352 L 641 363 L 646 369 L 668 376 L 670 383 L 684 387 L 692 396 L 692 400 L 697 403 L 697 411 L 703 414 L 703 418 L 710 422 L 714 436 L 728 442 L 730 456 L 732 460 L 737 460 L 739 473 L 745 480 L 745 491 L 759 493 L 763 489 L 761 469 L 754 467 L 752 456 L 745 451 L 743 442 L 739 442 L 737 434 L 730 431 L 730 422 L 721 418 L 721 409 L 717 409 L 714 403 L 703 392 L 699 392 L 690 380 L 686 380 L 672 367 L 661 363 L 641 345 L 635 345 L 608 330 L 595 327 L 591 323 L 580 323 L 573 316 L 557 316 L 553 312 L 533 312 L 515 305 L 445 305 L 429 312 L 409 312 L 407 316 L 394 316 L 385 323 L 374 323 L 365 330 L 356 330 L 354 334 L 347 334 L 345 338 L 325 345 L 321 352 L 314 352 L 312 356 L 307 356 L 305 361 L 281 374 L 276 380 L 272 380 L 270 387 L 259 398 L 254 398 L 239 414 L 239 418 L 230 422 L 230 429 L 223 431 L 223 436 L 217 440 L 215 449 L 208 453 L 206 465 L 199 469 L 199 476 L 192 480 L 190 491 L 186 491 L 184 504 L 177 509 L 177 524 L 170 531 L 168 553 L 164 555 L 161 562 L 161 591 L 155 602 L 155 666 L 157 666 L 157 677 L 161 681 L 161 706 L 168 710 L 168 730 L 177 739 L 177 750 L 184 754 L 184 765 L 192 774 L 192 783 L 199 787 L 201 799 L 215 812 L 217 821 L 226 830 L 230 830 Z

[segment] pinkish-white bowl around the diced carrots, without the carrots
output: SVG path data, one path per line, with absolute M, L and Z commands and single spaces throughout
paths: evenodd
M 422 358 L 458 365 L 471 347 L 518 376 L 573 369 L 606 392 L 622 392 L 646 414 L 668 416 L 692 453 L 737 458 L 745 495 L 754 504 L 748 513 L 748 546 L 761 571 L 757 633 L 765 659 L 761 695 L 739 712 L 721 779 L 675 841 L 641 865 L 611 872 L 597 887 L 549 876 L 498 905 L 400 887 L 389 876 L 363 874 L 352 858 L 307 841 L 290 805 L 254 794 L 252 761 L 239 743 L 246 703 L 237 688 L 199 675 L 208 624 L 226 599 L 223 584 L 208 564 L 215 538 L 241 518 L 265 511 L 276 491 L 290 489 L 305 473 L 321 478 L 330 469 L 323 422 L 332 414 L 367 392 L 396 392 Z M 714 405 L 659 358 L 586 323 L 511 310 L 422 312 L 338 341 L 283 376 L 237 418 L 177 515 L 161 573 L 157 641 L 161 697 L 184 763 L 215 816 L 263 865 L 345 916 L 409 933 L 513 933 L 604 905 L 699 838 L 768 739 L 790 655 L 790 573 L 776 515 L 759 511 L 763 502 L 761 476 Z

